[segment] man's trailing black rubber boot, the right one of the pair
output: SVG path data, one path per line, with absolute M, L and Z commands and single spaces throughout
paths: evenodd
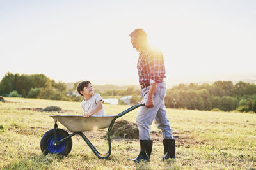
M 175 159 L 175 139 L 163 139 L 164 143 L 164 157 L 163 160 L 168 158 Z

